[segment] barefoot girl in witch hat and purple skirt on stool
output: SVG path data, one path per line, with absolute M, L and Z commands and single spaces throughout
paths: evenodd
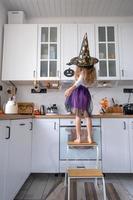
M 92 101 L 88 86 L 94 83 L 96 79 L 96 70 L 94 64 L 97 63 L 96 58 L 90 57 L 88 48 L 87 34 L 85 34 L 82 42 L 79 57 L 72 58 L 69 65 L 76 64 L 75 83 L 65 91 L 66 109 L 76 115 L 76 136 L 74 142 L 80 142 L 81 134 L 81 117 L 84 116 L 87 122 L 87 141 L 92 143 Z

